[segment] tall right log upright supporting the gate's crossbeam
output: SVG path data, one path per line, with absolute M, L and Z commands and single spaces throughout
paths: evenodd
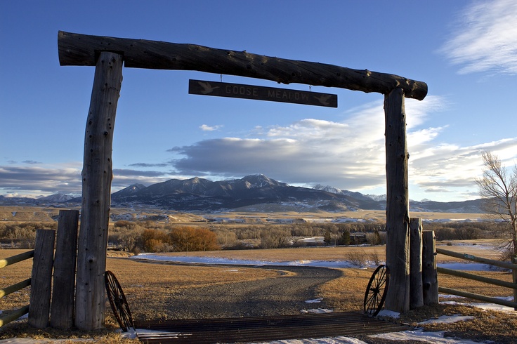
M 386 121 L 386 265 L 390 286 L 386 308 L 410 310 L 410 204 L 404 91 L 384 95 Z

